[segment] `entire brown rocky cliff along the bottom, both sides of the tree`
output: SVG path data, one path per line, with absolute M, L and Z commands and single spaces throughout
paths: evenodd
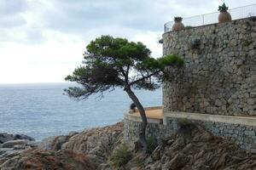
M 123 145 L 123 123 L 44 139 L 38 148 L 0 162 L 1 169 L 256 169 L 256 156 L 196 124 L 183 124 L 171 138 L 157 139 L 152 152 L 128 148 L 131 156 L 114 166 L 110 157 Z M 128 152 L 122 152 L 125 154 Z M 119 155 L 122 156 L 122 155 Z M 124 161 L 123 161 L 124 162 Z

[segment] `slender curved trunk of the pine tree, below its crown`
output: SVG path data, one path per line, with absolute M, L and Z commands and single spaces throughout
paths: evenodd
M 139 133 L 139 141 L 143 145 L 143 151 L 147 152 L 148 145 L 147 145 L 147 141 L 146 141 L 146 127 L 148 124 L 148 120 L 147 120 L 145 110 L 143 108 L 143 105 L 141 104 L 139 99 L 137 99 L 137 96 L 132 92 L 130 87 L 125 88 L 125 92 L 129 95 L 129 97 L 131 98 L 133 103 L 137 106 L 137 110 L 140 112 L 140 115 L 142 117 L 143 123 L 142 123 L 142 127 L 141 127 L 140 133 Z

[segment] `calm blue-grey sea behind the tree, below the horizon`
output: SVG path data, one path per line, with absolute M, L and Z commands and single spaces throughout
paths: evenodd
M 0 133 L 24 133 L 37 140 L 122 121 L 131 99 L 121 89 L 103 99 L 75 101 L 63 89 L 74 84 L 0 84 Z M 162 105 L 162 91 L 136 90 L 143 105 Z

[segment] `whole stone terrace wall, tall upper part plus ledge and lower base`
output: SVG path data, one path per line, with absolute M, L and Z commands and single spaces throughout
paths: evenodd
M 163 51 L 180 55 L 185 65 L 166 69 L 164 119 L 149 119 L 147 136 L 171 136 L 185 119 L 241 148 L 256 148 L 255 17 L 166 32 Z M 128 144 L 140 126 L 140 117 L 125 115 Z

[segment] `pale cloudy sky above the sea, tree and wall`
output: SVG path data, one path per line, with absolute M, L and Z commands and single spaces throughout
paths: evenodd
M 0 0 L 0 84 L 64 82 L 86 45 L 111 35 L 143 42 L 155 58 L 174 16 L 216 12 L 254 0 Z

